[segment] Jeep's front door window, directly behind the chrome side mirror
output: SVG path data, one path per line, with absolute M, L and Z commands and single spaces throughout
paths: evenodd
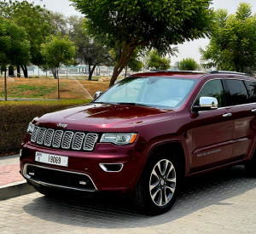
M 198 94 L 195 100 L 195 106 L 199 106 L 199 100 L 201 97 L 214 97 L 218 100 L 218 107 L 225 106 L 224 88 L 221 80 L 212 80 L 207 82 Z

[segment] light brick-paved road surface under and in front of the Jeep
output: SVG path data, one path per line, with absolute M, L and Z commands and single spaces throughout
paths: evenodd
M 256 233 L 256 179 L 240 166 L 189 180 L 160 216 L 136 214 L 125 201 L 15 197 L 0 202 L 0 233 Z

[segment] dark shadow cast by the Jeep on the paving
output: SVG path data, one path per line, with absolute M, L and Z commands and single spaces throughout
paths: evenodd
M 24 211 L 59 224 L 107 229 L 137 228 L 165 224 L 212 204 L 230 205 L 226 199 L 255 187 L 256 180 L 248 178 L 242 166 L 236 166 L 189 179 L 172 209 L 159 216 L 137 214 L 125 197 L 96 194 L 61 199 L 38 197 L 24 206 Z

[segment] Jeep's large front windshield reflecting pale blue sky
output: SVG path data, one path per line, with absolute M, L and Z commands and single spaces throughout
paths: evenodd
M 128 77 L 94 102 L 177 109 L 188 98 L 195 83 L 195 79 L 189 78 Z

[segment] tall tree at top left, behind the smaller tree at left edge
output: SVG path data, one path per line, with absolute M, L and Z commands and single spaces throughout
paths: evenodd
M 0 15 L 5 19 L 15 20 L 18 26 L 22 26 L 25 29 L 27 40 L 31 44 L 31 62 L 33 65 L 42 65 L 44 60 L 40 53 L 40 46 L 54 30 L 48 11 L 27 1 L 4 0 L 0 3 Z M 16 66 L 18 73 L 21 66 L 24 76 L 27 77 L 26 66 L 20 64 L 16 64 Z

